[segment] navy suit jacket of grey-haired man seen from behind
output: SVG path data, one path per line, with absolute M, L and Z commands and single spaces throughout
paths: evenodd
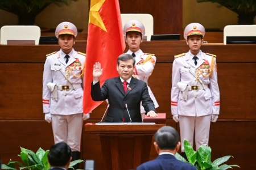
M 196 170 L 196 167 L 177 160 L 174 155 L 164 154 L 139 165 L 137 170 Z

